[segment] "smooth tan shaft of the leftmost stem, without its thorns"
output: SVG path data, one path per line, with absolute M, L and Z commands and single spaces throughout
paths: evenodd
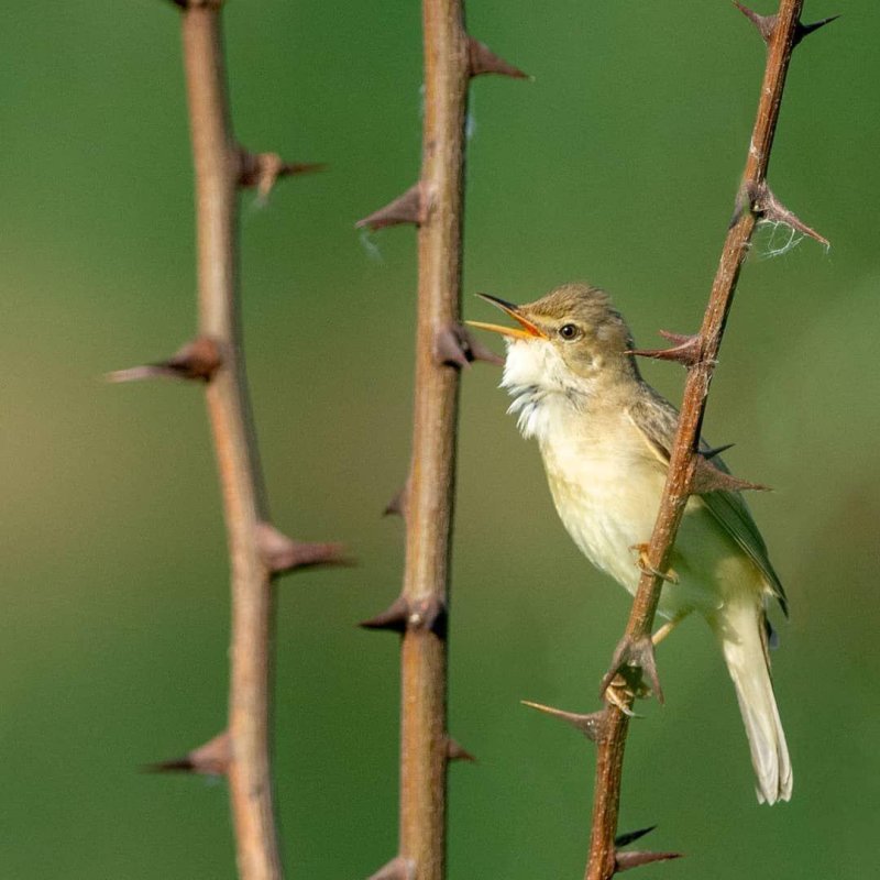
M 229 119 L 220 33 L 222 0 L 189 0 L 183 12 L 198 226 L 199 330 L 222 363 L 207 400 L 223 495 L 232 591 L 229 785 L 244 880 L 280 878 L 268 754 L 271 573 L 257 547 L 266 518 L 252 429 L 239 315 L 239 154 Z

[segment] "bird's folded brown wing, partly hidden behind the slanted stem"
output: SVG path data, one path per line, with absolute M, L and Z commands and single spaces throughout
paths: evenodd
M 666 398 L 648 385 L 645 396 L 629 407 L 629 417 L 641 432 L 650 450 L 664 468 L 669 466 L 670 450 L 675 439 L 679 425 L 679 414 Z M 701 438 L 700 448 L 708 451 L 711 447 Z M 712 463 L 724 473 L 729 474 L 727 465 L 717 455 L 713 455 Z M 767 552 L 761 532 L 755 522 L 748 505 L 739 492 L 716 490 L 700 496 L 710 513 L 724 527 L 725 531 L 745 550 L 749 559 L 761 570 L 767 579 L 773 595 L 779 600 L 783 613 L 788 616 L 788 601 L 782 582 L 776 573 Z

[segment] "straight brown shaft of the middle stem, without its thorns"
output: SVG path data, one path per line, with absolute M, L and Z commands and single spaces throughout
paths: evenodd
M 413 460 L 404 597 L 448 604 L 459 375 L 437 358 L 459 320 L 468 46 L 460 0 L 425 0 L 425 123 Z M 409 626 L 402 647 L 400 856 L 418 880 L 446 860 L 447 645 L 444 626 Z

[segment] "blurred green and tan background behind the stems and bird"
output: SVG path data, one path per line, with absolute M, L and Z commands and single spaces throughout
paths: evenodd
M 769 0 L 760 11 L 771 10 Z M 833 242 L 765 230 L 743 273 L 706 433 L 777 487 L 752 498 L 792 618 L 776 654 L 795 767 L 759 807 L 733 689 L 694 619 L 632 729 L 622 829 L 640 877 L 864 878 L 880 801 L 880 55 L 871 0 L 798 52 L 770 182 Z M 408 459 L 415 233 L 354 221 L 418 175 L 416 2 L 234 0 L 237 131 L 329 165 L 243 197 L 248 358 L 273 513 L 344 540 L 282 583 L 277 795 L 292 877 L 362 878 L 396 846 L 397 648 L 355 622 L 399 588 L 380 514 Z M 696 328 L 745 160 L 763 47 L 726 0 L 471 2 L 535 76 L 472 89 L 471 295 L 608 288 L 642 345 Z M 0 873 L 232 878 L 226 788 L 143 774 L 223 725 L 224 538 L 201 389 L 109 386 L 193 332 L 191 169 L 177 13 L 160 0 L 14 3 L 0 32 Z M 494 344 L 494 343 L 493 343 Z M 681 372 L 648 364 L 673 400 Z M 479 365 L 462 389 L 451 631 L 450 877 L 580 877 L 593 752 L 519 705 L 596 706 L 628 609 L 558 524 L 537 450 Z

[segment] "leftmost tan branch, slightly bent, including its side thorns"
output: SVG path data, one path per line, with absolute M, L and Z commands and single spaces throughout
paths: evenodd
M 261 197 L 279 177 L 317 166 L 251 155 L 230 122 L 220 14 L 223 0 L 173 0 L 180 9 L 196 170 L 199 334 L 167 361 L 111 374 L 114 381 L 202 381 L 213 433 L 230 568 L 232 627 L 228 728 L 154 770 L 226 774 L 242 880 L 279 880 L 282 864 L 270 767 L 273 579 L 342 561 L 330 543 L 294 541 L 268 522 L 244 369 L 239 301 L 238 190 Z

